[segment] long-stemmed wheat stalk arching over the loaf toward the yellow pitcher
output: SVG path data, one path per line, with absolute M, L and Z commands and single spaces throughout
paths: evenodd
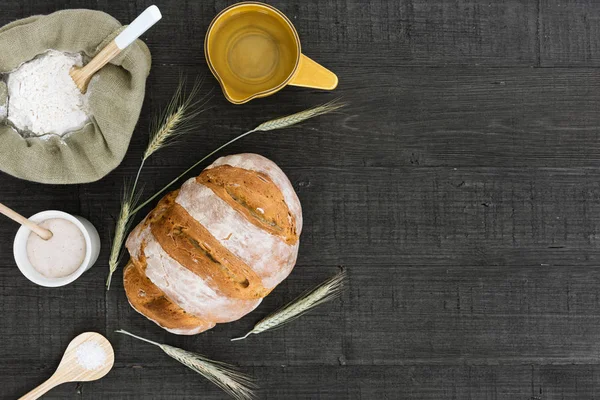
M 319 115 L 324 115 L 324 114 L 328 114 L 328 113 L 337 111 L 340 108 L 345 107 L 345 106 L 346 106 L 345 103 L 342 103 L 339 100 L 333 100 L 328 103 L 321 104 L 320 106 L 316 106 L 316 107 L 310 108 L 308 110 L 298 112 L 296 114 L 292 114 L 292 115 L 288 115 L 285 117 L 276 118 L 276 119 L 273 119 L 273 120 L 270 120 L 267 122 L 263 122 L 262 124 L 258 125 L 256 128 L 234 137 L 229 142 L 219 146 L 215 150 L 208 153 L 206 156 L 202 157 L 198 162 L 196 162 L 194 165 L 192 165 L 191 167 L 189 167 L 188 169 L 183 171 L 177 178 L 173 179 L 165 187 L 163 187 L 158 192 L 154 193 L 151 197 L 149 197 L 144 202 L 142 202 L 139 206 L 137 206 L 135 208 L 135 210 L 133 210 L 133 212 L 136 213 L 139 210 L 141 210 L 144 206 L 146 206 L 152 200 L 154 200 L 155 198 L 160 196 L 162 193 L 164 193 L 167 189 L 169 189 L 171 186 L 173 186 L 175 183 L 177 183 L 177 181 L 179 181 L 181 178 L 183 178 L 185 175 L 187 175 L 188 172 L 190 172 L 191 170 L 196 168 L 198 165 L 200 165 L 201 163 L 206 161 L 209 157 L 213 156 L 215 153 L 219 152 L 220 150 L 223 150 L 225 147 L 229 146 L 230 144 L 237 142 L 238 140 L 250 135 L 251 133 L 266 132 L 266 131 L 272 131 L 272 130 L 276 130 L 276 129 L 288 128 L 290 126 L 299 124 L 300 122 L 306 121 L 310 118 L 318 117 Z

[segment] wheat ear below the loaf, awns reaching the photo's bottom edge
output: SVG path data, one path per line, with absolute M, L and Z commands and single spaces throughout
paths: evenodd
M 200 354 L 192 353 L 178 347 L 157 343 L 122 329 L 115 332 L 129 335 L 146 343 L 160 347 L 162 351 L 169 355 L 169 357 L 199 373 L 236 400 L 256 398 L 255 390 L 258 389 L 258 386 L 254 383 L 254 379 L 241 373 L 233 365 L 214 361 Z

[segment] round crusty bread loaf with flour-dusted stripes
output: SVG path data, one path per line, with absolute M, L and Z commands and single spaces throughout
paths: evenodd
M 129 235 L 129 303 L 180 335 L 237 320 L 289 275 L 301 230 L 300 201 L 275 163 L 219 158 Z

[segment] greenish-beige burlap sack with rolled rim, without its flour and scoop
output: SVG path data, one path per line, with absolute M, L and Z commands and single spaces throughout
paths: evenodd
M 121 28 L 110 15 L 91 10 L 64 10 L 12 22 L 0 28 L 0 73 L 48 49 L 79 52 L 89 59 Z M 150 63 L 148 48 L 137 40 L 102 68 L 88 89 L 92 123 L 64 138 L 24 139 L 1 123 L 0 169 L 55 184 L 91 182 L 108 174 L 129 146 Z

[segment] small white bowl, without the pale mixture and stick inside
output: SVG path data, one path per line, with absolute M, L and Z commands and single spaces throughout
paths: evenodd
M 85 238 L 85 258 L 75 272 L 62 278 L 48 278 L 37 272 L 27 257 L 27 238 L 29 237 L 31 230 L 26 226 L 21 226 L 17 231 L 13 243 L 13 253 L 15 255 L 17 266 L 27 279 L 40 286 L 58 287 L 68 285 L 75 281 L 81 274 L 94 265 L 96 260 L 98 260 L 98 254 L 100 254 L 100 236 L 98 236 L 98 231 L 94 228 L 94 225 L 87 219 L 77 215 L 67 214 L 62 211 L 42 211 L 31 216 L 29 219 L 33 222 L 40 223 L 50 218 L 62 218 L 72 222 L 79 230 L 81 230 L 81 233 Z

